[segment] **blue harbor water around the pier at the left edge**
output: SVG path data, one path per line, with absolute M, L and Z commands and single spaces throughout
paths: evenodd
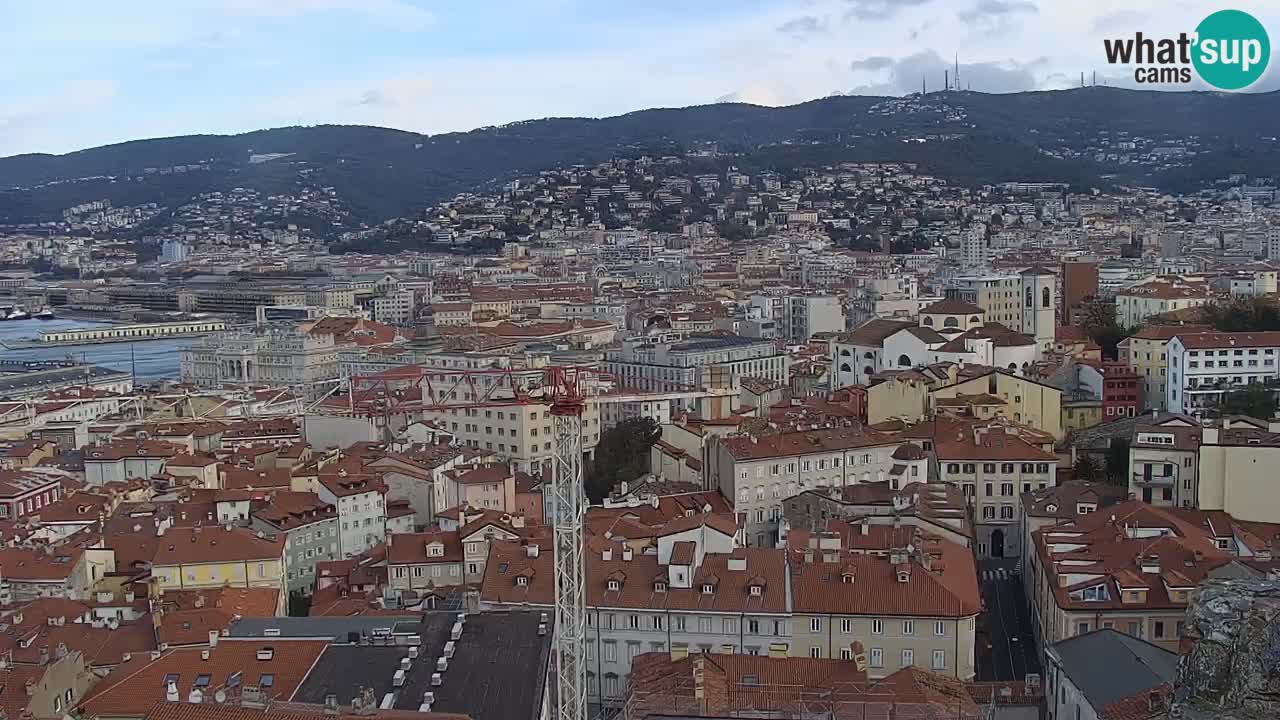
M 4 320 L 0 322 L 0 340 L 37 340 L 41 331 L 73 328 L 101 328 L 111 323 L 88 320 Z M 198 342 L 195 337 L 113 342 L 104 345 L 59 345 L 56 347 L 31 347 L 22 350 L 0 348 L 5 360 L 65 360 L 68 356 L 102 365 L 114 370 L 134 373 L 141 380 L 178 379 L 180 361 L 178 351 Z

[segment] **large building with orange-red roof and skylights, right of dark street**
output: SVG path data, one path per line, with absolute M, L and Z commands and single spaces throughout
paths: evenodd
M 1041 642 L 1115 629 L 1178 651 L 1197 585 L 1235 559 L 1271 559 L 1277 525 L 1126 501 L 1032 533 Z

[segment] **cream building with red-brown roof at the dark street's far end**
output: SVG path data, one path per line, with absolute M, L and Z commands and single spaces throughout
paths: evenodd
M 961 488 L 969 498 L 978 555 L 1021 556 L 1019 496 L 1057 482 L 1053 438 L 1002 421 L 969 423 L 941 416 L 909 434 L 933 447 L 942 482 Z

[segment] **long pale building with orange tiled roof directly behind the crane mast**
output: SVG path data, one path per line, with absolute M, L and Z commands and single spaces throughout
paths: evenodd
M 791 652 L 783 551 L 735 547 L 708 524 L 657 538 L 657 552 L 598 543 L 586 555 L 588 700 L 618 705 L 645 652 Z M 550 606 L 552 552 L 495 543 L 481 607 Z

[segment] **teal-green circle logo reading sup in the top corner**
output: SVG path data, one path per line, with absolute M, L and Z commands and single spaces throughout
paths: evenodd
M 1204 82 L 1219 90 L 1242 90 L 1267 69 L 1271 40 L 1253 15 L 1219 10 L 1196 27 L 1192 63 Z

